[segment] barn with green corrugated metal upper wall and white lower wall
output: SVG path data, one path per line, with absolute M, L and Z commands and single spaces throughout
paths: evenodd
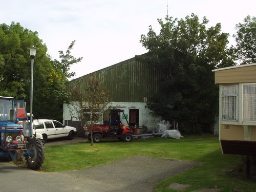
M 130 123 L 137 126 L 145 125 L 149 130 L 157 128 L 160 117 L 151 115 L 145 105 L 158 91 L 159 81 L 164 78 L 163 71 L 134 57 L 69 81 L 67 91 L 71 91 L 73 87 L 82 90 L 86 86 L 88 77 L 94 75 L 101 78 L 106 90 L 113 93 L 112 105 L 119 105 Z M 63 105 L 63 110 L 63 120 L 70 121 L 67 104 Z M 125 124 L 124 121 L 122 123 Z

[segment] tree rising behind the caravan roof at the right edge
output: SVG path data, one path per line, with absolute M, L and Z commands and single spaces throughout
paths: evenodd
M 256 62 L 256 17 L 249 15 L 244 18 L 244 23 L 236 25 L 237 47 L 236 55 L 243 64 Z

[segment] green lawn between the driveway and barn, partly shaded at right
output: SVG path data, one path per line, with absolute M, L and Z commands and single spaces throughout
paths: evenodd
M 202 165 L 174 176 L 156 185 L 156 191 L 176 191 L 169 184 L 190 184 L 185 191 L 197 188 L 219 187 L 222 191 L 256 191 L 256 183 L 245 178 L 231 177 L 228 173 L 241 162 L 241 156 L 222 155 L 216 135 L 185 136 L 183 139 L 148 138 L 134 139 L 131 143 L 103 140 L 95 143 L 75 143 L 45 147 L 45 162 L 42 169 L 47 172 L 74 170 L 105 164 L 136 155 L 161 157 L 176 160 L 202 162 Z

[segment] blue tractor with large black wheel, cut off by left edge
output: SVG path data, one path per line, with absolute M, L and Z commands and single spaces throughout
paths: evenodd
M 31 169 L 44 163 L 45 152 L 27 117 L 24 100 L 0 96 L 0 159 L 27 161 Z

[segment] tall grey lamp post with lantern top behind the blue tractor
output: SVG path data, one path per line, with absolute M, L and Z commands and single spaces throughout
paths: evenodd
M 29 137 L 33 134 L 33 71 L 34 71 L 34 58 L 36 50 L 39 48 L 36 48 L 34 46 L 28 48 L 30 52 L 30 58 L 31 58 L 31 78 L 30 78 L 30 132 Z

